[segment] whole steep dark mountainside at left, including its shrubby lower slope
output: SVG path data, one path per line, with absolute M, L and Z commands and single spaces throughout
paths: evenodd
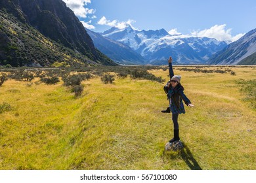
M 116 65 L 95 48 L 74 12 L 61 0 L 1 0 L 0 9 L 1 65 L 9 63 L 21 66 L 35 62 L 49 65 L 54 61 L 62 62 L 65 56 L 61 55 L 66 54 L 62 49 L 72 52 L 68 58 L 75 57 L 75 64 Z M 44 39 L 58 44 L 57 49 L 41 45 Z

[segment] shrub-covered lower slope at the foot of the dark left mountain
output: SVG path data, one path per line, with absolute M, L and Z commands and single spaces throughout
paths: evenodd
M 29 24 L 0 10 L 0 65 L 11 67 L 85 67 L 89 65 L 113 65 L 114 63 L 96 50 L 93 56 L 65 47 L 45 37 Z

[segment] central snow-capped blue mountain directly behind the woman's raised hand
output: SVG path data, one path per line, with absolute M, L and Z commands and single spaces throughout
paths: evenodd
M 169 35 L 165 29 L 138 31 L 131 26 L 125 29 L 112 27 L 102 36 L 127 44 L 150 64 L 166 64 L 169 56 L 173 56 L 177 63 L 202 64 L 227 45 L 207 37 Z

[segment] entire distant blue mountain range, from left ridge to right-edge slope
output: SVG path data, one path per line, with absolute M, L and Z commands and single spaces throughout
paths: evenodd
M 108 41 L 115 41 L 117 44 L 121 43 L 122 45 L 126 45 L 137 54 L 140 54 L 143 58 L 137 58 L 137 63 L 140 64 L 162 65 L 166 64 L 166 60 L 169 56 L 173 56 L 177 64 L 236 65 L 255 64 L 256 35 L 254 33 L 255 31 L 250 31 L 244 35 L 244 37 L 231 44 L 228 41 L 217 41 L 216 39 L 208 37 L 169 35 L 165 29 L 138 31 L 131 26 L 125 29 L 112 27 L 104 31 L 104 33 L 95 33 L 94 36 L 91 35 L 92 33 L 89 33 L 89 35 L 95 42 L 96 47 L 115 61 L 116 58 L 110 54 L 112 50 L 109 47 L 110 44 L 106 43 L 106 40 L 102 41 L 104 38 Z M 100 39 L 98 39 L 98 37 L 100 37 Z M 248 45 L 249 47 L 247 47 Z M 234 47 L 236 47 L 236 49 L 234 49 Z M 108 48 L 108 52 L 106 52 L 106 48 Z M 116 48 L 114 50 L 116 50 Z M 234 60 L 234 50 L 240 53 L 240 59 L 236 61 Z M 129 50 L 129 52 L 131 53 L 131 50 Z M 224 52 L 232 54 L 233 58 L 224 59 L 227 56 Z M 133 63 L 133 60 L 130 59 L 129 56 L 129 54 L 123 54 L 123 58 L 118 60 L 120 63 Z

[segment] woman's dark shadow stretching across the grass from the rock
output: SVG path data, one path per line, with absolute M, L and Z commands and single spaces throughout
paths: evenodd
M 188 146 L 182 142 L 184 148 L 179 152 L 179 156 L 185 161 L 186 165 L 192 170 L 202 170 L 196 159 L 194 159 L 193 154 L 190 152 Z

